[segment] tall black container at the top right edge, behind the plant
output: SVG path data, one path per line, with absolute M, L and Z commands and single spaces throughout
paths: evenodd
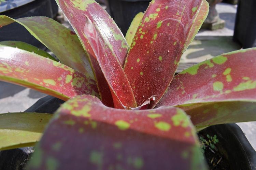
M 233 40 L 243 48 L 256 47 L 256 0 L 240 0 Z

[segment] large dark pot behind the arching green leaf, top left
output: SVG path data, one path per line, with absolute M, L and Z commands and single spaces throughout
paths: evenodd
M 0 15 L 6 15 L 14 19 L 30 16 L 46 16 L 53 18 L 58 12 L 58 5 L 55 0 L 34 0 L 25 5 L 1 12 Z M 0 29 L 0 41 L 15 40 L 23 41 L 43 50 L 46 47 L 35 39 L 23 26 L 14 22 Z

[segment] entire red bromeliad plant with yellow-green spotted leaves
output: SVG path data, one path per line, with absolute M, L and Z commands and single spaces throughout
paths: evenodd
M 28 169 L 207 169 L 196 130 L 256 120 L 255 48 L 174 76 L 208 14 L 205 0 L 152 0 L 128 30 L 130 47 L 94 0 L 56 1 L 75 33 L 46 17 L 0 16 L 0 26 L 22 24 L 60 60 L 4 41 L 0 79 L 68 100 Z M 1 114 L 1 149 L 33 145 L 51 117 Z

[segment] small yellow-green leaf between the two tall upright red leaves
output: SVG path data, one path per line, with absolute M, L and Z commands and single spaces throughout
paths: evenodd
M 129 27 L 129 29 L 127 30 L 127 33 L 125 35 L 125 39 L 127 41 L 127 44 L 129 45 L 129 47 L 131 46 L 132 43 L 132 38 L 134 37 L 137 28 L 139 27 L 139 24 L 142 20 L 144 13 L 140 12 L 138 13 L 132 20 L 131 25 Z

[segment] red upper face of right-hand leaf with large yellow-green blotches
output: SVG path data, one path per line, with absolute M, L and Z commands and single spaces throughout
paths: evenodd
M 256 48 L 222 54 L 194 65 L 171 82 L 157 107 L 256 99 Z

